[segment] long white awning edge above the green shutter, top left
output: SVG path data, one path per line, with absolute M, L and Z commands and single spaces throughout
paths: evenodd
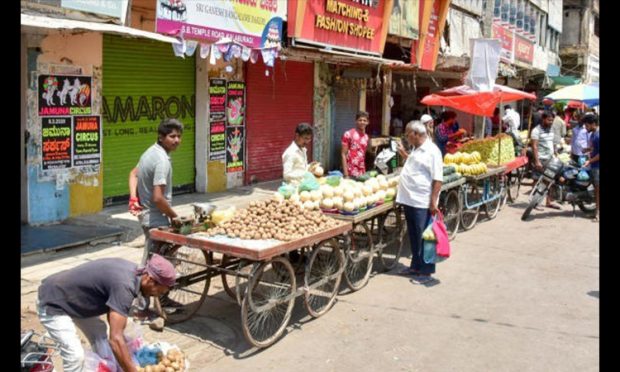
M 162 41 L 164 43 L 178 43 L 177 39 L 170 36 L 160 35 L 155 32 L 138 30 L 126 26 L 110 23 L 76 21 L 73 19 L 61 19 L 24 13 L 21 14 L 21 25 L 22 27 L 96 31 L 123 36 L 142 37 Z

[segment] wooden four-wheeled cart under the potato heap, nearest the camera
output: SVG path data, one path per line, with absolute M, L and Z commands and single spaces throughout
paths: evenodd
M 168 323 L 187 320 L 204 302 L 211 278 L 234 277 L 243 334 L 250 344 L 267 347 L 283 334 L 296 297 L 304 297 L 313 317 L 333 304 L 345 265 L 340 242 L 352 229 L 345 221 L 334 226 L 290 241 L 209 236 L 201 229 L 187 235 L 173 228 L 152 229 L 157 251 L 175 265 L 179 275 L 170 292 L 156 300 L 156 308 Z M 311 254 L 298 278 L 288 253 L 302 248 Z M 213 253 L 228 259 L 214 264 Z

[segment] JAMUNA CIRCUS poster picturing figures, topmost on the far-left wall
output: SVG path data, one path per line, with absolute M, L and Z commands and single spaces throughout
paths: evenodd
M 92 77 L 39 75 L 39 116 L 92 114 Z

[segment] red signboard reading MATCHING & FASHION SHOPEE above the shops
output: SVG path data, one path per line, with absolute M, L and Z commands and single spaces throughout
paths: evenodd
M 381 54 L 393 0 L 289 0 L 288 35 Z

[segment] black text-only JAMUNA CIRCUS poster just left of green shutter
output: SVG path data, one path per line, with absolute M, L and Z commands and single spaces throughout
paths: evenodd
M 73 166 L 101 163 L 101 116 L 73 117 Z

